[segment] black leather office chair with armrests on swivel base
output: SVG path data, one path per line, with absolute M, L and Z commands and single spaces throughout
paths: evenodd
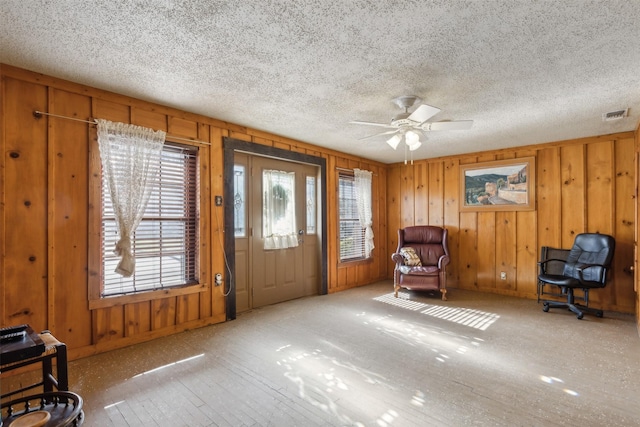
M 583 233 L 576 236 L 566 259 L 540 261 L 539 286 L 557 286 L 561 289 L 561 295 L 567 298 L 567 302 L 543 301 L 542 310 L 547 312 L 550 308 L 568 308 L 578 319 L 582 319 L 585 312 L 602 317 L 602 310 L 589 307 L 589 290 L 605 287 L 615 246 L 614 238 L 609 235 Z M 557 266 L 559 262 L 564 265 L 562 272 L 550 271 L 548 267 L 552 264 Z M 583 292 L 584 305 L 575 302 L 576 289 Z

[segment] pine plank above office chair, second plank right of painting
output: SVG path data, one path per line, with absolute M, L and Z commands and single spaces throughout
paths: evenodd
M 582 144 L 560 148 L 560 247 L 570 248 L 576 234 L 586 229 L 585 148 Z M 588 196 L 587 196 L 588 197 Z

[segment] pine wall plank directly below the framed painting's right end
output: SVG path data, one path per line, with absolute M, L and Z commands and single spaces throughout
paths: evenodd
M 535 211 L 516 212 L 516 269 L 515 290 L 527 298 L 534 298 L 538 283 L 538 242 Z M 507 276 L 509 278 L 509 276 Z

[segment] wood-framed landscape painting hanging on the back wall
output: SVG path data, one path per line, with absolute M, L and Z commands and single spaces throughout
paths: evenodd
M 460 165 L 460 211 L 535 209 L 535 157 Z

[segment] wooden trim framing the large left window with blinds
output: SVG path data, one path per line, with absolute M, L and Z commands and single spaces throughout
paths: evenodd
M 167 139 L 167 143 L 177 145 L 190 145 L 197 146 L 199 149 L 198 154 L 198 173 L 199 179 L 199 202 L 200 202 L 200 221 L 199 221 L 199 261 L 197 262 L 199 268 L 199 282 L 174 286 L 166 289 L 141 291 L 138 293 L 124 294 L 124 295 L 101 295 L 101 278 L 102 278 L 102 166 L 100 163 L 100 152 L 98 148 L 97 130 L 91 127 L 91 144 L 89 147 L 89 212 L 88 212 L 88 306 L 89 310 L 98 308 L 107 308 L 114 306 L 121 306 L 125 304 L 153 301 L 157 299 L 175 297 L 180 295 L 189 295 L 200 292 L 206 292 L 211 289 L 210 285 L 210 264 L 211 254 L 206 251 L 206 248 L 210 248 L 211 236 L 208 233 L 208 226 L 210 218 L 210 196 L 208 195 L 208 189 L 210 188 L 210 168 L 209 157 L 210 149 L 208 145 L 202 145 L 197 143 L 187 142 L 174 142 Z

